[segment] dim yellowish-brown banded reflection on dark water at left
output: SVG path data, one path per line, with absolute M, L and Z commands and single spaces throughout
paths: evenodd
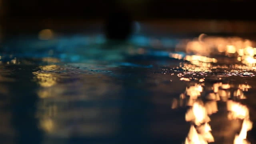
M 74 72 L 76 71 L 76 74 Z M 37 116 L 49 138 L 111 137 L 119 129 L 120 107 L 111 103 L 120 86 L 100 73 L 56 65 L 41 66 L 34 72 L 40 97 Z

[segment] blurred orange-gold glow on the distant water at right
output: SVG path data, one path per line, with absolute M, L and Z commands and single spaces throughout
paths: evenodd
M 204 38 L 202 39 L 202 37 Z M 224 38 L 200 34 L 198 39 L 182 41 L 181 44 L 176 46 L 176 49 L 179 51 L 183 50 L 186 54 L 194 54 L 194 58 L 192 58 L 193 56 L 186 56 L 184 58 L 194 65 L 203 66 L 202 63 L 211 61 L 217 62 L 216 59 L 206 58 L 206 56 L 223 54 L 231 58 L 237 57 L 238 62 L 240 61 L 242 64 L 254 67 L 250 69 L 255 69 L 256 59 L 254 55 L 256 54 L 256 48 L 254 48 L 254 46 L 256 46 L 256 42 L 252 40 L 238 37 Z M 201 57 L 201 60 L 199 57 Z M 189 70 L 192 70 L 192 68 Z

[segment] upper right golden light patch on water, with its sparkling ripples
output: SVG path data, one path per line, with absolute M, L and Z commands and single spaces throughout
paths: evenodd
M 180 40 L 176 45 L 176 52 L 184 51 L 187 55 L 172 52 L 169 57 L 188 61 L 182 62 L 180 67 L 189 71 L 211 72 L 225 68 L 255 70 L 255 46 L 256 43 L 248 39 L 201 34 L 193 40 Z

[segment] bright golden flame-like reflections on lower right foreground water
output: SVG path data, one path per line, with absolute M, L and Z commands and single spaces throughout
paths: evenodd
M 190 84 L 190 86 L 186 88 L 184 93 L 180 94 L 180 100 L 175 99 L 172 101 L 172 109 L 182 106 L 191 106 L 185 115 L 185 120 L 192 122 L 188 136 L 185 139 L 185 144 L 207 144 L 208 142 L 214 142 L 214 137 L 210 132 L 212 129 L 208 122 L 210 122 L 209 116 L 218 112 L 218 100 L 222 102 L 226 101 L 228 120 L 243 120 L 240 133 L 235 136 L 234 144 L 250 144 L 250 142 L 246 140 L 247 132 L 252 129 L 249 109 L 247 106 L 234 101 L 246 98 L 243 92 L 248 91 L 248 89 L 251 88 L 250 85 L 234 85 L 216 82 L 212 85 L 207 85 L 207 87 L 203 87 L 205 86 L 204 81 L 200 82 L 200 85 L 193 84 L 191 81 L 185 82 Z M 191 84 L 193 85 L 191 86 Z M 202 86 L 202 89 L 198 88 L 198 86 Z M 230 92 L 232 92 L 231 89 L 235 89 L 232 94 L 230 94 Z M 199 97 L 200 99 L 198 99 Z M 204 98 L 206 100 L 202 101 L 201 99 Z M 186 104 L 184 104 L 184 102 L 186 102 Z

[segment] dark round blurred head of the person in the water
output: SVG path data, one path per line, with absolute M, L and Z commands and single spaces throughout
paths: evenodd
M 109 40 L 126 40 L 132 32 L 132 18 L 123 10 L 112 10 L 105 23 L 105 35 Z

